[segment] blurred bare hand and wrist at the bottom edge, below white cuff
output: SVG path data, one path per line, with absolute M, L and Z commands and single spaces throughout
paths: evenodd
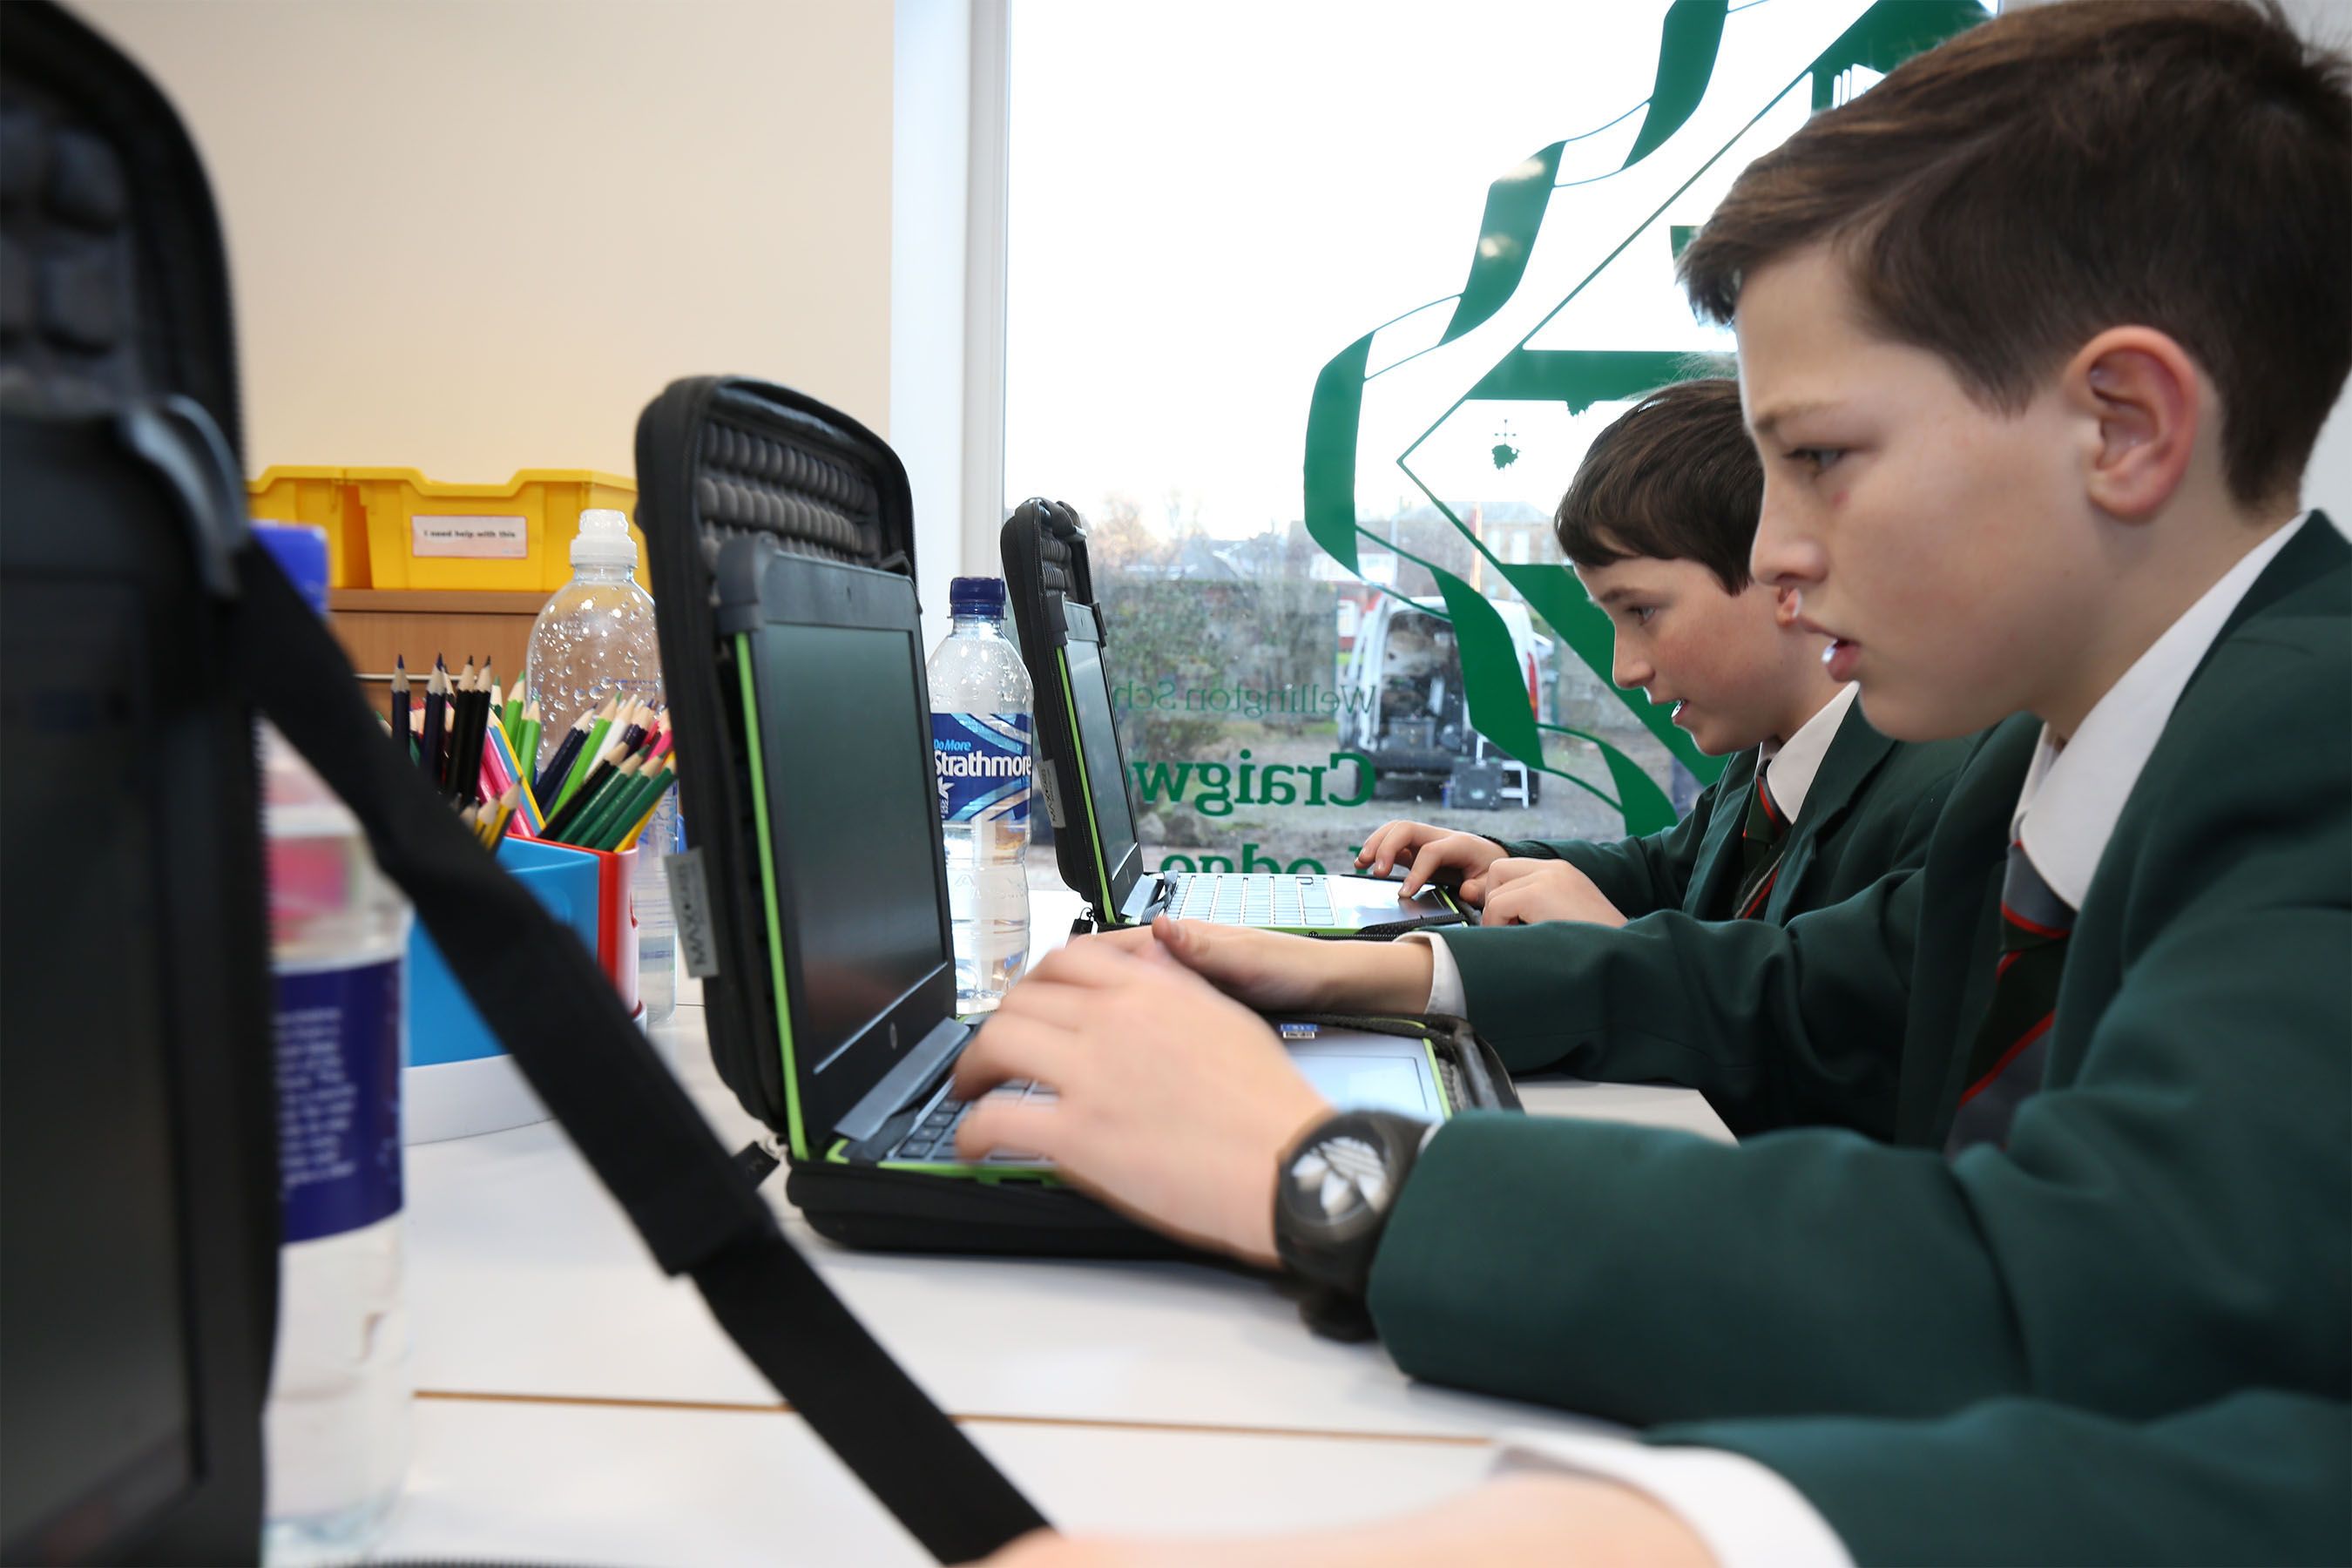
M 1712 1568 L 1715 1554 L 1670 1507 L 1630 1486 L 1517 1472 L 1437 1507 L 1312 1535 L 1070 1540 L 1023 1535 L 988 1568 L 1456 1568 L 1588 1563 Z

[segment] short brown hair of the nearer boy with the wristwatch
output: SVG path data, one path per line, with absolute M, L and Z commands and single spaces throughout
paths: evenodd
M 2239 503 L 2296 487 L 2352 367 L 2345 59 L 2277 5 L 2067 0 L 1985 21 L 1748 165 L 1682 254 L 1719 322 L 1818 240 L 1872 331 L 2020 409 L 2107 327 L 2220 388 Z

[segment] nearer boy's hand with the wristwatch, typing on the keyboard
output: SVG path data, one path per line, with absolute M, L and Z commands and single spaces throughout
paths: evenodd
M 1331 1114 L 1240 1001 L 1134 943 L 1080 938 L 1028 973 L 955 1063 L 974 1100 L 1033 1079 L 1056 1100 L 981 1100 L 955 1152 L 1035 1150 L 1115 1208 L 1275 1265 L 1275 1164 Z

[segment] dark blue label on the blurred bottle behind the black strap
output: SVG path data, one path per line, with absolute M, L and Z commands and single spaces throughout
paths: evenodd
M 400 1213 L 400 959 L 278 976 L 285 1239 Z

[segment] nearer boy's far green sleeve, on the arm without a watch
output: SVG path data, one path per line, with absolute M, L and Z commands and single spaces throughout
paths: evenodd
M 1792 1124 L 1891 1138 L 1917 924 L 1919 875 L 1898 870 L 1785 926 L 1668 910 L 1444 943 L 1470 1023 L 1512 1072 L 1686 1084 L 1743 1138 Z

